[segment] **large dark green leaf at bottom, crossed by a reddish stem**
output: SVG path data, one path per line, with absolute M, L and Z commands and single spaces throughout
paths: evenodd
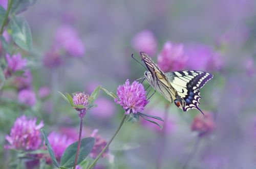
M 90 153 L 94 146 L 95 138 L 87 137 L 81 140 L 81 146 L 79 150 L 79 155 L 77 159 L 77 164 L 82 162 L 84 158 Z M 75 156 L 76 156 L 76 149 L 77 149 L 77 142 L 71 144 L 69 147 L 66 148 L 64 151 L 60 165 L 64 167 L 72 167 L 74 165 Z

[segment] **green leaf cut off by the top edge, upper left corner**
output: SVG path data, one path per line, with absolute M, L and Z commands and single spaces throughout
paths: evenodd
M 36 0 L 14 0 L 11 7 L 11 13 L 19 14 L 28 9 L 29 6 L 33 5 Z

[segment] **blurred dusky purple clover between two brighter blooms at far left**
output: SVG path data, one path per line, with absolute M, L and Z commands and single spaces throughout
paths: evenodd
M 13 85 L 15 85 L 18 90 L 30 89 L 32 83 L 32 75 L 29 70 L 25 70 L 23 77 L 15 77 Z

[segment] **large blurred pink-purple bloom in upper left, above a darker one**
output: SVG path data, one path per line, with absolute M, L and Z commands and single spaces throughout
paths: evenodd
M 81 39 L 70 25 L 62 25 L 56 31 L 55 48 L 66 50 L 72 57 L 82 57 L 85 52 Z

